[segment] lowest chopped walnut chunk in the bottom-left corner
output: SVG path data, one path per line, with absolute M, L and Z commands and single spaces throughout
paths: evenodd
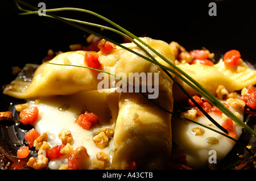
M 44 154 L 38 155 L 38 158 L 30 157 L 27 162 L 27 166 L 32 167 L 35 170 L 41 170 L 47 167 L 48 158 Z

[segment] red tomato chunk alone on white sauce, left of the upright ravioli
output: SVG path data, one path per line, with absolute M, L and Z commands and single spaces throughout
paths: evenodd
M 92 112 L 82 113 L 76 121 L 76 123 L 84 129 L 92 128 L 92 125 L 96 124 L 97 122 L 98 122 L 98 116 L 96 116 L 96 114 Z

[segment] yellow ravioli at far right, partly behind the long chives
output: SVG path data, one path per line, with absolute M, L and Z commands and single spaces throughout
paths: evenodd
M 235 70 L 226 69 L 222 60 L 214 66 L 202 64 L 181 64 L 177 66 L 213 95 L 216 95 L 216 90 L 219 85 L 224 85 L 226 90 L 234 92 L 243 89 L 243 87 L 256 84 L 256 71 L 250 69 L 242 60 Z M 177 77 L 176 79 L 190 95 L 198 94 L 185 82 L 181 81 L 181 79 Z M 176 84 L 174 85 L 174 95 L 175 100 L 178 101 L 187 99 L 187 96 L 180 91 Z

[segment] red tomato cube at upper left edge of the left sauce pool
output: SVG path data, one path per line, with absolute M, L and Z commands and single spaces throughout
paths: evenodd
M 33 124 L 38 120 L 39 110 L 38 107 L 28 107 L 19 113 L 20 122 L 22 124 Z

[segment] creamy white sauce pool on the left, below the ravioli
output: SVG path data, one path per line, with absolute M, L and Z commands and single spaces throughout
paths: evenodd
M 73 136 L 73 141 L 71 142 L 73 150 L 78 146 L 84 146 L 90 155 L 90 160 L 96 158 L 96 154 L 100 151 L 106 151 L 109 155 L 111 154 L 113 138 L 109 141 L 109 146 L 104 149 L 98 149 L 92 141 L 93 134 L 101 127 L 110 128 L 113 125 L 110 123 L 112 117 L 106 103 L 106 93 L 87 91 L 67 96 L 42 97 L 38 100 L 39 103 L 36 104 L 34 100 L 28 101 L 30 106 L 37 106 L 39 109 L 39 119 L 34 124 L 34 128 L 40 134 L 48 134 L 50 146 L 61 145 L 58 135 L 62 129 L 68 129 Z M 64 107 L 69 106 L 68 109 L 61 110 L 60 107 L 63 105 L 65 105 Z M 100 124 L 89 131 L 80 127 L 75 121 L 82 111 L 96 113 Z M 48 166 L 50 169 L 58 169 L 63 162 L 61 160 L 50 161 Z M 92 169 L 92 167 L 88 164 L 88 168 L 85 169 Z

